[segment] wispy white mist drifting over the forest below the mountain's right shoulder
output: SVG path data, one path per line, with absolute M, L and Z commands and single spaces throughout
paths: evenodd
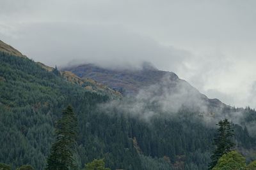
M 217 105 L 215 105 L 217 103 Z M 188 118 L 192 122 L 201 122 L 207 127 L 228 118 L 233 124 L 244 127 L 244 110 L 220 104 L 217 99 L 209 101 L 188 82 L 166 74 L 159 83 L 144 87 L 134 97 L 110 101 L 99 105 L 100 110 L 108 114 L 124 114 L 150 123 L 152 118 L 172 117 L 180 120 Z M 253 134 L 253 125 L 247 125 Z

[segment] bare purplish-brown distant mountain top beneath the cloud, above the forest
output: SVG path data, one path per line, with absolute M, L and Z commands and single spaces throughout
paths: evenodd
M 153 67 L 152 64 L 148 64 L 147 62 L 143 64 L 142 69 L 137 70 L 109 69 L 95 64 L 64 67 L 62 70 L 71 71 L 80 78 L 92 78 L 93 80 L 118 90 L 127 96 L 136 96 L 141 89 L 147 89 L 150 85 L 163 85 L 164 77 L 168 76 L 170 81 L 168 81 L 166 86 L 172 86 L 171 89 L 176 88 L 178 90 L 183 88 L 186 90 L 188 99 L 195 101 L 195 98 L 197 98 L 198 100 L 203 101 L 209 110 L 213 111 L 230 107 L 221 103 L 218 99 L 207 98 L 207 96 L 201 94 L 187 81 L 181 80 L 177 74 L 158 70 L 156 67 Z

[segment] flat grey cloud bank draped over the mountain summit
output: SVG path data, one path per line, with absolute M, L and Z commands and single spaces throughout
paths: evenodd
M 93 63 L 138 68 L 145 61 L 177 70 L 189 52 L 164 46 L 115 25 L 44 23 L 21 25 L 8 43 L 49 66 Z M 26 42 L 26 43 L 24 43 Z

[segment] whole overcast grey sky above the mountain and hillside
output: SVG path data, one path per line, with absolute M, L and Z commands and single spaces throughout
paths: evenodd
M 0 39 L 50 66 L 152 62 L 256 108 L 256 1 L 0 0 Z

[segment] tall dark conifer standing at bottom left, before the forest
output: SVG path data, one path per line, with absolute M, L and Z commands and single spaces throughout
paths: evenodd
M 77 138 L 77 118 L 71 106 L 63 110 L 56 124 L 56 141 L 47 159 L 47 170 L 76 169 L 73 153 Z

